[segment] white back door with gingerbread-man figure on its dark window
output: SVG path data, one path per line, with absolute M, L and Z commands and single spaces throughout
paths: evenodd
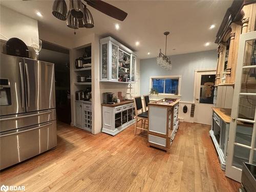
M 211 124 L 214 103 L 214 83 L 216 69 L 195 71 L 195 112 L 194 122 Z

